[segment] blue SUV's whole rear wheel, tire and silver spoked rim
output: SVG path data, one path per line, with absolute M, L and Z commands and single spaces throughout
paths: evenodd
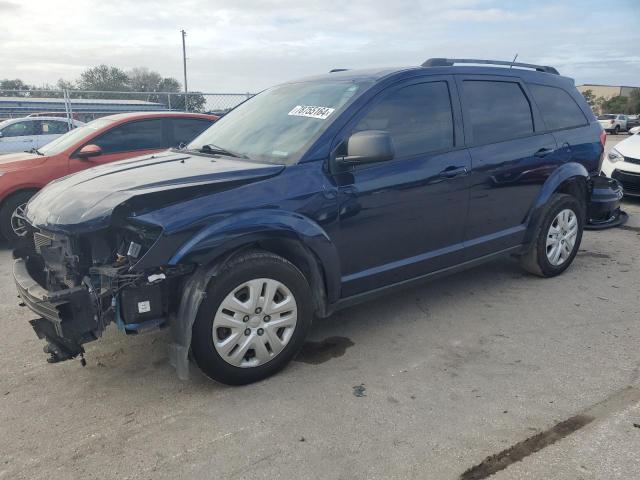
M 584 218 L 584 206 L 574 196 L 555 194 L 521 257 L 523 268 L 541 277 L 564 272 L 580 248 Z

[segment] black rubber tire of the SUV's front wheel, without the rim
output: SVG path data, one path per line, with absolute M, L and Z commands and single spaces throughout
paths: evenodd
M 255 367 L 237 367 L 216 351 L 213 322 L 225 297 L 244 282 L 268 278 L 281 282 L 293 294 L 297 305 L 297 322 L 284 349 L 274 358 Z M 227 385 L 244 385 L 267 378 L 282 370 L 298 353 L 313 318 L 309 282 L 298 268 L 286 259 L 265 251 L 241 253 L 231 259 L 209 282 L 193 325 L 191 353 L 200 369 L 211 379 Z

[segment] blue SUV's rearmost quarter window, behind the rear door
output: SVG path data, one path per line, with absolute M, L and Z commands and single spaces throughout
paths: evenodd
M 587 117 L 584 116 L 578 104 L 561 88 L 530 84 L 529 89 L 549 130 L 587 124 Z

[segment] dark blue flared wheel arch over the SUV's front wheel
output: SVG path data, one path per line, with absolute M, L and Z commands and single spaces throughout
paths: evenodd
M 318 223 L 294 212 L 258 209 L 232 215 L 201 229 L 178 248 L 169 264 L 206 265 L 243 246 L 277 239 L 297 241 L 315 255 L 325 275 L 327 297 L 330 302 L 337 300 L 340 263 L 336 247 Z

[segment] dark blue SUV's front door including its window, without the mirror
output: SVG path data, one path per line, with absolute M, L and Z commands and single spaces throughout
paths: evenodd
M 462 261 L 470 158 L 460 121 L 453 77 L 429 76 L 387 88 L 339 135 L 385 130 L 395 146 L 392 160 L 336 177 L 343 297 Z

